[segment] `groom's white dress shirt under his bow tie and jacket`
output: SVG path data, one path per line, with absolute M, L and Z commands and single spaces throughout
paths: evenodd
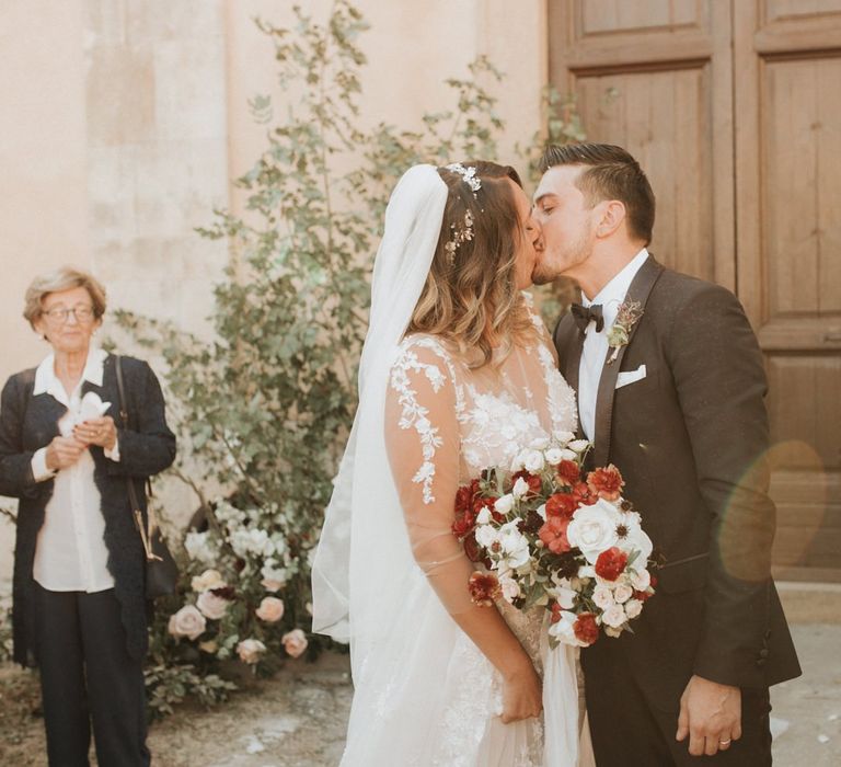
M 596 437 L 596 398 L 599 393 L 601 370 L 608 355 L 608 331 L 617 320 L 619 307 L 625 300 L 627 288 L 631 287 L 636 273 L 647 257 L 648 251 L 643 248 L 592 300 L 581 296 L 581 305 L 585 307 L 600 304 L 604 318 L 604 327 L 600 333 L 596 332 L 595 320 L 587 325 L 581 362 L 578 367 L 578 414 L 581 428 L 590 440 Z

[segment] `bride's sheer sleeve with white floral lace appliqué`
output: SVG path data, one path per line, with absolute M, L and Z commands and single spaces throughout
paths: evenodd
M 470 609 L 473 568 L 451 533 L 459 481 L 459 392 L 435 341 L 404 343 L 391 369 L 385 446 L 415 561 L 445 607 Z

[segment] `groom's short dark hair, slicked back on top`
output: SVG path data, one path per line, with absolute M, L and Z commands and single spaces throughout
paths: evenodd
M 627 211 L 627 229 L 647 245 L 654 229 L 654 192 L 640 163 L 622 147 L 612 144 L 567 144 L 546 147 L 540 172 L 556 165 L 587 165 L 576 186 L 592 206 L 619 199 Z

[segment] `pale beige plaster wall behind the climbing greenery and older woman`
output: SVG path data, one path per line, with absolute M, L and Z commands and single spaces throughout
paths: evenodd
M 371 25 L 360 44 L 364 121 L 417 127 L 452 106 L 442 81 L 479 54 L 506 73 L 493 90 L 507 124 L 503 159 L 539 123 L 545 2 L 357 0 Z M 330 0 L 300 0 L 325 19 Z M 237 204 L 230 178 L 265 146 L 247 99 L 277 92 L 270 43 L 253 18 L 291 23 L 287 0 L 3 0 L 0 3 L 0 379 L 44 354 L 20 318 L 32 276 L 91 268 L 111 306 L 209 334 L 223 243 L 193 228 Z M 107 330 L 107 328 L 106 328 Z M 129 350 L 130 351 L 130 350 Z M 169 508 L 193 501 L 170 488 Z M 0 579 L 11 566 L 0 522 Z

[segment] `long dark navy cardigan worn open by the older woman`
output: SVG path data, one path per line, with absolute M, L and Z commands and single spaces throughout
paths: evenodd
M 105 458 L 103 449 L 90 448 L 94 461 L 94 483 L 102 496 L 105 517 L 105 546 L 108 572 L 114 577 L 114 593 L 120 603 L 126 630 L 126 646 L 135 659 L 148 648 L 145 599 L 145 557 L 131 515 L 126 477 L 131 477 L 145 506 L 147 477 L 169 467 L 175 458 L 175 436 L 166 426 L 161 387 L 152 369 L 140 359 L 123 357 L 123 378 L 128 400 L 130 428 L 119 419 L 119 396 L 114 356 L 104 363 L 102 387 L 85 381 L 82 394 L 95 391 L 111 402 L 107 415 L 117 425 L 119 462 Z M 20 499 L 14 548 L 12 586 L 12 629 L 14 660 L 36 665 L 35 610 L 32 568 L 44 511 L 53 496 L 54 480 L 35 482 L 32 456 L 58 436 L 58 421 L 66 408 L 50 394 L 33 396 L 35 368 L 12 376 L 0 399 L 0 495 Z M 146 512 L 146 508 L 143 508 Z

